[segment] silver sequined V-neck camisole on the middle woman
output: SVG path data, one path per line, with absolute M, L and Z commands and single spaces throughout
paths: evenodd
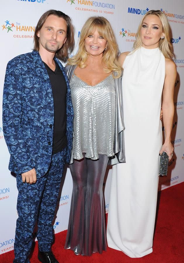
M 113 156 L 116 94 L 109 75 L 90 86 L 75 74 L 70 82 L 74 108 L 73 158 L 97 160 L 98 154 Z

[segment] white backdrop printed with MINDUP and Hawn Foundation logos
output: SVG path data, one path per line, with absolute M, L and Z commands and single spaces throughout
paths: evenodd
M 76 53 L 82 25 L 90 16 L 107 18 L 117 37 L 120 52 L 131 51 L 136 31 L 143 14 L 151 9 L 165 12 L 172 29 L 171 42 L 174 47 L 177 65 L 175 84 L 175 116 L 173 120 L 172 143 L 173 159 L 169 162 L 169 172 L 159 183 L 159 190 L 184 181 L 184 1 L 183 0 L 6 0 L 1 2 L 1 68 L 0 68 L 0 254 L 13 249 L 15 222 L 17 219 L 16 180 L 8 171 L 9 153 L 2 127 L 2 94 L 7 62 L 13 57 L 32 51 L 35 26 L 40 16 L 49 9 L 56 9 L 68 14 L 75 28 Z M 133 107 L 133 105 L 132 105 Z M 164 130 L 164 128 L 163 128 Z M 125 138 L 126 139 L 126 138 Z M 145 143 L 145 142 L 143 142 Z M 141 158 L 144 160 L 144 158 Z M 140 159 L 140 165 L 141 165 Z M 111 169 L 107 170 L 105 185 L 105 204 L 108 212 Z M 54 222 L 55 233 L 67 229 L 72 178 L 67 168 L 60 198 L 58 212 Z

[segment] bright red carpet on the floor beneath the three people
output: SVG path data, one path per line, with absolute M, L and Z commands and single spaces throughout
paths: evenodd
M 113 263 L 181 263 L 184 262 L 184 182 L 159 192 L 157 224 L 155 230 L 153 253 L 138 259 L 131 259 L 123 252 L 107 247 L 102 255 L 96 253 L 91 257 L 76 256 L 71 250 L 65 250 L 67 231 L 55 235 L 52 250 L 61 262 L 113 262 Z M 37 259 L 38 243 L 35 243 L 31 263 L 39 263 Z M 13 262 L 13 251 L 0 255 L 1 263 Z

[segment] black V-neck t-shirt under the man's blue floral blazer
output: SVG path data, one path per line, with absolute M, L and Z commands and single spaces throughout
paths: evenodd
M 44 62 L 44 61 L 43 61 Z M 53 154 L 63 150 L 67 146 L 66 137 L 66 94 L 67 84 L 63 72 L 58 63 L 55 62 L 55 71 L 51 70 L 44 62 L 49 80 L 51 82 L 54 99 L 54 134 Z M 49 125 L 50 128 L 51 125 Z

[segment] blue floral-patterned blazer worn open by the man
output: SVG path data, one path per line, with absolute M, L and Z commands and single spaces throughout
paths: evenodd
M 65 70 L 57 58 L 67 83 L 67 155 L 72 149 L 73 107 Z M 48 73 L 39 52 L 22 54 L 8 62 L 3 93 L 3 131 L 10 152 L 9 170 L 25 173 L 33 168 L 37 178 L 51 163 L 54 102 Z

